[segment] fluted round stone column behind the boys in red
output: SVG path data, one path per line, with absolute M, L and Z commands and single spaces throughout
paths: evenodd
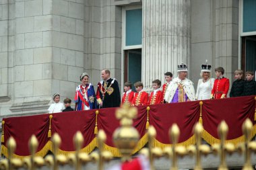
M 189 63 L 190 0 L 145 0 L 143 7 L 142 82 L 164 83 L 164 73 L 177 76 L 177 65 Z

